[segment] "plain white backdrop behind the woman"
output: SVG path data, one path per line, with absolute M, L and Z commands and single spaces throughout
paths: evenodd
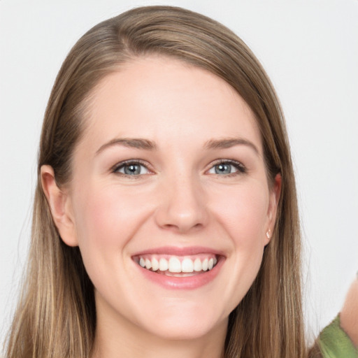
M 59 66 L 94 24 L 150 4 L 227 25 L 275 85 L 299 190 L 312 337 L 338 313 L 358 269 L 358 1 L 0 0 L 0 341 L 26 259 L 38 138 Z

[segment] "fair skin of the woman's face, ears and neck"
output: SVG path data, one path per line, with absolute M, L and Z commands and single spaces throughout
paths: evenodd
M 252 111 L 224 80 L 163 57 L 121 66 L 90 98 L 73 179 L 57 187 L 50 166 L 41 178 L 62 239 L 80 247 L 94 283 L 94 357 L 220 357 L 280 195 L 280 176 L 268 183 Z M 155 149 L 113 144 L 118 138 L 144 138 Z M 241 142 L 208 148 L 228 138 Z M 129 159 L 141 159 L 139 175 L 124 174 L 120 163 Z M 239 166 L 215 173 L 219 160 Z M 196 289 L 157 285 L 132 259 L 194 245 L 224 258 L 214 280 Z

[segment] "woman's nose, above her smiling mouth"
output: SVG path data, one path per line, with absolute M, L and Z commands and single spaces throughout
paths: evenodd
M 160 196 L 155 213 L 159 227 L 184 234 L 208 223 L 208 208 L 199 180 L 183 176 L 169 180 Z

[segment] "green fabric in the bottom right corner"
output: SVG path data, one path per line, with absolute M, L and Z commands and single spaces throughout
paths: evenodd
M 341 329 L 339 316 L 323 329 L 318 344 L 324 358 L 358 358 L 358 351 Z

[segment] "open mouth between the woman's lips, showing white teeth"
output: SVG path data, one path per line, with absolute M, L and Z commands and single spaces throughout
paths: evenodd
M 211 271 L 220 257 L 213 254 L 194 256 L 138 255 L 133 259 L 142 268 L 159 275 L 189 277 Z

